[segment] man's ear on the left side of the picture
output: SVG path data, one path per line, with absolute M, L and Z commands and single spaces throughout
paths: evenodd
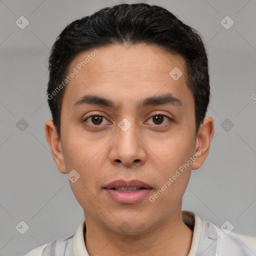
M 56 128 L 55 128 L 55 125 L 53 124 L 53 121 L 50 119 L 47 120 L 45 122 L 44 127 L 45 127 L 46 140 L 50 147 L 50 151 L 57 165 L 57 168 L 61 173 L 67 173 L 65 162 L 64 162 L 63 150 L 61 147 L 61 141 L 57 135 Z

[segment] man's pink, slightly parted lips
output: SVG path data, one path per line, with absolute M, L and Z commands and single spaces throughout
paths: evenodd
M 131 192 L 122 192 L 115 189 L 114 187 L 143 187 L 141 190 L 131 191 Z M 137 203 L 140 202 L 145 197 L 148 197 L 148 194 L 151 192 L 152 187 L 138 179 L 132 179 L 125 181 L 122 179 L 114 180 L 108 183 L 103 190 L 106 192 L 107 196 L 113 201 L 118 203 Z

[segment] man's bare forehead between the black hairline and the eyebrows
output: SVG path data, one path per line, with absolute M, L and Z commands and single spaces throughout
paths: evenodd
M 191 96 L 186 86 L 185 62 L 178 54 L 145 44 L 109 45 L 93 52 L 94 49 L 81 52 L 69 64 L 68 74 L 77 71 L 65 88 L 69 105 L 88 92 L 107 95 L 118 105 L 158 91 L 171 92 L 175 97 Z M 173 68 L 182 72 L 177 80 L 170 76 Z

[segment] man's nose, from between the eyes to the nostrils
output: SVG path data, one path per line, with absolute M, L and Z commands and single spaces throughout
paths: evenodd
M 143 164 L 146 161 L 146 145 L 140 134 L 134 122 L 131 123 L 127 119 L 121 121 L 111 140 L 110 161 L 113 164 L 123 164 L 129 167 Z

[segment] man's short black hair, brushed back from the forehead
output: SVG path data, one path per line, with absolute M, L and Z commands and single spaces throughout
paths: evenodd
M 194 98 L 197 133 L 210 96 L 207 53 L 199 33 L 163 7 L 123 3 L 71 22 L 51 48 L 47 99 L 59 138 L 63 81 L 72 59 L 82 51 L 100 46 L 139 43 L 155 45 L 184 58 L 186 84 Z

